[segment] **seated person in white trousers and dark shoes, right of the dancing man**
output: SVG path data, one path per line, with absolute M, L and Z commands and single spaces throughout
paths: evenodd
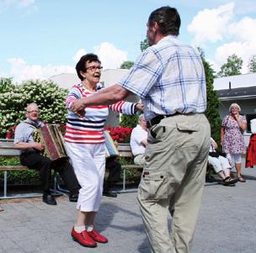
M 216 153 L 216 148 L 216 141 L 211 138 L 211 148 L 209 150 L 208 161 L 211 166 L 213 166 L 216 174 L 221 177 L 224 186 L 234 186 L 238 180 L 237 178 L 230 177 L 231 166 L 226 157 Z

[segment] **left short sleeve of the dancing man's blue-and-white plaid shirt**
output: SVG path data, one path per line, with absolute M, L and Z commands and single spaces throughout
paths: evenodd
M 131 70 L 120 82 L 121 87 L 145 98 L 163 73 L 163 63 L 157 50 L 147 48 L 136 60 Z

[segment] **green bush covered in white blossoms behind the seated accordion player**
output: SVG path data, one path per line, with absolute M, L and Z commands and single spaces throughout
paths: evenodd
M 2 79 L 1 79 L 2 80 Z M 5 82 L 8 83 L 8 82 Z M 63 123 L 67 119 L 65 98 L 67 90 L 52 81 L 26 81 L 22 85 L 8 83 L 0 94 L 0 138 L 4 138 L 10 127 L 24 120 L 24 110 L 29 103 L 37 103 L 40 120 L 48 123 Z

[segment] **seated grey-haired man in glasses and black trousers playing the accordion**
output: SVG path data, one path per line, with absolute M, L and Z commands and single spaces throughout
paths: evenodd
M 40 155 L 44 150 L 44 145 L 35 142 L 33 131 L 35 128 L 41 128 L 44 124 L 38 119 L 39 110 L 35 103 L 30 103 L 26 108 L 26 117 L 15 129 L 14 147 L 21 150 L 20 162 L 29 169 L 40 171 L 40 180 L 43 190 L 43 202 L 56 205 L 55 198 L 51 195 L 51 169 L 59 172 L 63 182 L 70 191 L 69 200 L 77 202 L 79 184 L 68 159 L 61 158 L 51 161 L 49 158 Z

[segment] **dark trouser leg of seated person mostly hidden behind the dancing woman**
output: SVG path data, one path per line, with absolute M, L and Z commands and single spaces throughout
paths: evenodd
M 104 180 L 104 192 L 108 192 L 120 180 L 121 165 L 115 157 L 106 159 L 106 170 L 109 170 L 109 176 Z

